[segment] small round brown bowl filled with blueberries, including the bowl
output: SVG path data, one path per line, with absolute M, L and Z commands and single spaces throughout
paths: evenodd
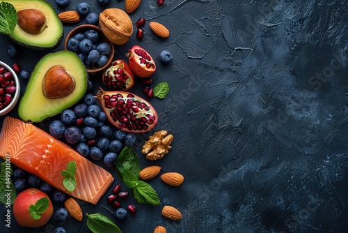
M 113 43 L 104 36 L 102 29 L 92 24 L 75 27 L 68 33 L 65 50 L 75 52 L 87 68 L 88 73 L 104 70 L 113 61 Z

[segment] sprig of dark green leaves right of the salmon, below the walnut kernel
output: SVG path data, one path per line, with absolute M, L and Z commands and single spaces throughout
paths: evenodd
M 156 191 L 145 181 L 139 179 L 141 166 L 132 147 L 125 146 L 116 162 L 116 172 L 128 188 L 132 188 L 134 198 L 141 204 L 161 204 Z

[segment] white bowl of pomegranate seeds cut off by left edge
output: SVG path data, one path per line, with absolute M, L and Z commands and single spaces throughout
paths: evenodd
M 10 66 L 0 61 L 0 116 L 15 107 L 19 98 L 19 79 Z

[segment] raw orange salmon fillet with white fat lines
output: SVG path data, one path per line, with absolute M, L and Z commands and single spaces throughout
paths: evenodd
M 13 117 L 3 120 L 0 133 L 0 157 L 10 155 L 10 161 L 26 172 L 40 177 L 50 185 L 80 200 L 97 204 L 113 181 L 102 167 L 81 156 L 67 144 L 56 140 L 44 130 Z M 63 186 L 70 161 L 75 161 L 77 187 L 68 191 Z

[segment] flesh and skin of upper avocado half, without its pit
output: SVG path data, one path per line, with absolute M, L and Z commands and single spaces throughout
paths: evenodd
M 11 0 L 17 12 L 24 9 L 40 10 L 47 20 L 47 27 L 39 34 L 27 33 L 17 24 L 15 30 L 8 35 L 15 43 L 31 50 L 53 50 L 58 47 L 63 38 L 63 24 L 59 20 L 54 8 L 47 1 L 43 0 Z

